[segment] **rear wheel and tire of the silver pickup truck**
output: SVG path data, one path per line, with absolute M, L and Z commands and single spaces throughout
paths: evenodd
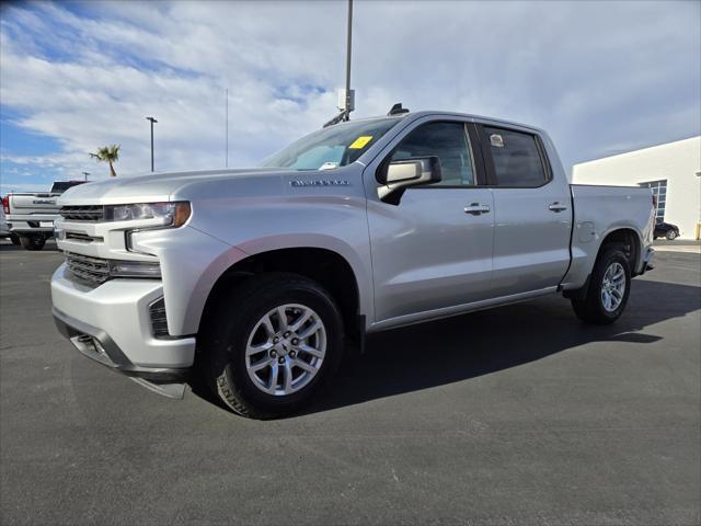
M 624 288 L 622 290 L 613 285 L 619 283 L 619 279 L 611 279 L 616 277 L 619 270 L 623 273 L 622 285 Z M 611 271 L 613 271 L 613 274 L 611 274 Z M 628 259 L 619 248 L 611 247 L 606 249 L 597 259 L 586 294 L 573 297 L 572 307 L 577 317 L 587 323 L 598 325 L 613 323 L 625 310 L 630 291 L 631 270 Z M 620 295 L 620 298 L 618 295 Z M 610 301 L 608 305 L 607 297 Z M 618 301 L 618 305 L 616 305 L 616 301 Z

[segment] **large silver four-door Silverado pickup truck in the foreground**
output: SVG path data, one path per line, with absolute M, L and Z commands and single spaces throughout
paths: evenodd
M 60 332 L 161 393 L 202 375 L 250 418 L 299 410 L 376 331 L 549 294 L 610 323 L 653 264 L 650 190 L 571 185 L 543 130 L 457 113 L 336 124 L 257 168 L 60 205 Z

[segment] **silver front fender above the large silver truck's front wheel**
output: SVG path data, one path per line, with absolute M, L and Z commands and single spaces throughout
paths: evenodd
M 280 249 L 324 249 L 350 266 L 360 315 L 370 323 L 375 311 L 365 194 L 359 186 L 341 188 L 345 194 L 337 190 L 315 188 L 324 195 L 221 197 L 202 205 L 194 201 L 189 225 L 239 251 L 211 260 L 202 289 L 208 295 L 221 274 L 245 256 Z

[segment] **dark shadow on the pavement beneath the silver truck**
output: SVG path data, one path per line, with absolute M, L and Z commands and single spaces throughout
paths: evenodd
M 662 338 L 641 331 L 699 308 L 699 287 L 636 279 L 611 325 L 587 325 L 552 296 L 378 333 L 304 413 L 464 381 L 591 342 L 654 343 Z

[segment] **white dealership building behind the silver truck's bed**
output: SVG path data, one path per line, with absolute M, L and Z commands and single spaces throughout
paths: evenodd
M 575 164 L 572 182 L 651 187 L 657 220 L 677 225 L 681 239 L 701 235 L 701 136 Z

